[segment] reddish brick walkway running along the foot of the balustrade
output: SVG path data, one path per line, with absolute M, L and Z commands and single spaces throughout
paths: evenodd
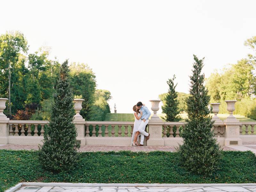
M 224 151 L 246 151 L 251 150 L 256 154 L 256 142 L 246 142 L 243 143 L 243 146 L 221 146 Z M 0 149 L 13 149 L 13 150 L 37 150 L 38 145 L 13 145 L 13 144 L 1 144 Z M 123 151 L 123 150 L 130 150 L 130 151 L 176 151 L 175 147 L 173 146 L 81 146 L 79 151 Z

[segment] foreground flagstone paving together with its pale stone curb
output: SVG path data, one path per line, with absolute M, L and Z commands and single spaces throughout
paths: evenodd
M 47 183 L 46 183 L 47 184 Z M 52 185 L 49 186 L 26 186 L 22 185 L 20 188 L 14 190 L 16 192 L 171 192 L 171 191 L 191 191 L 191 192 L 247 192 L 256 191 L 256 184 L 160 184 L 151 186 L 146 184 L 113 184 L 112 186 L 104 186 L 104 184 L 94 184 L 89 186 L 89 184 L 71 184 L 66 185 Z M 106 185 L 106 184 L 105 184 Z M 137 186 L 136 186 L 137 185 Z M 96 187 L 95 187 L 96 186 Z M 161 186 L 161 187 L 159 187 Z

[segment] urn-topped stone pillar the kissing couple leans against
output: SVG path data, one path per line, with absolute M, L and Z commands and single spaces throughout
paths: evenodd
M 156 112 L 159 110 L 159 102 L 161 100 L 149 101 L 151 102 L 151 110 L 154 112 L 154 115 L 151 117 L 148 123 L 150 138 L 147 140 L 147 146 L 164 146 L 164 139 L 162 137 L 162 126 L 164 122 L 156 115 Z

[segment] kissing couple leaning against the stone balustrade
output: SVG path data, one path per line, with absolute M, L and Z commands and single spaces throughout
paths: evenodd
M 146 136 L 146 140 L 149 139 L 149 133 L 145 131 L 146 125 L 148 124 L 148 118 L 151 113 L 145 104 L 142 102 L 138 102 L 133 106 L 133 115 L 135 117 L 135 121 L 133 124 L 133 132 L 132 132 L 132 146 L 143 146 L 144 137 Z M 140 135 L 140 143 L 139 141 Z

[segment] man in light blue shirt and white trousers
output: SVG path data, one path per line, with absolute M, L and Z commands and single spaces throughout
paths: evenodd
M 151 113 L 146 106 L 143 106 L 142 102 L 138 102 L 137 106 L 140 108 L 140 112 L 142 112 L 142 116 L 141 116 L 142 121 L 138 128 L 138 131 L 141 133 L 139 146 L 143 146 L 144 137 L 146 136 L 147 140 L 149 139 L 149 133 L 145 132 L 145 127 L 148 124 L 148 118 L 150 117 Z

